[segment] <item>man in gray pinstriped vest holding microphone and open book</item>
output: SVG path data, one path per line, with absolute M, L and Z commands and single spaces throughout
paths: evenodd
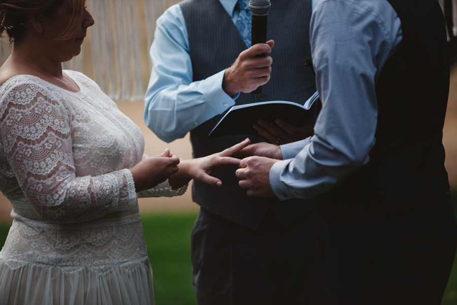
M 190 0 L 157 20 L 145 123 L 166 142 L 190 132 L 194 158 L 246 137 L 254 143 L 291 141 L 268 134 L 207 137 L 233 105 L 303 104 L 315 92 L 313 75 L 304 65 L 311 0 L 272 3 L 267 34 L 272 41 L 254 46 L 248 3 Z M 255 58 L 259 53 L 268 56 Z M 259 85 L 264 85 L 263 94 L 251 94 Z M 313 123 L 297 127 L 293 139 L 312 134 Z M 265 131 L 262 124 L 256 126 L 260 132 Z M 198 303 L 323 303 L 327 228 L 314 201 L 250 198 L 238 187 L 235 170 L 216 173 L 224 181 L 217 190 L 193 184 L 193 201 L 201 206 L 191 237 Z

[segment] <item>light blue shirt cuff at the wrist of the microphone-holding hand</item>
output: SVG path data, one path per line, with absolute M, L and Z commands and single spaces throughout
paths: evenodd
M 239 94 L 236 94 L 232 98 L 228 96 L 222 89 L 224 74 L 225 70 L 222 70 L 221 72 L 208 77 L 204 80 L 203 85 L 203 99 L 212 109 L 214 109 L 214 111 L 219 114 L 225 112 L 225 110 L 235 105 L 235 99 L 239 96 Z

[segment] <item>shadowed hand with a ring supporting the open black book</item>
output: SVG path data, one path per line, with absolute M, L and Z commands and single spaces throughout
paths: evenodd
M 259 136 L 276 145 L 297 142 L 314 134 L 314 124 L 293 126 L 280 118 L 276 119 L 275 123 L 260 119 L 253 127 L 257 130 Z

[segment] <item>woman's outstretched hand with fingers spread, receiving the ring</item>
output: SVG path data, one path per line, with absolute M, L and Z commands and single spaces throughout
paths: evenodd
M 211 176 L 211 173 L 217 171 L 224 165 L 240 165 L 241 160 L 232 158 L 241 149 L 249 145 L 250 140 L 246 139 L 230 148 L 227 148 L 220 153 L 213 154 L 207 157 L 183 160 L 179 166 L 180 172 L 186 174 L 190 179 L 205 182 L 212 186 L 220 187 L 222 181 Z

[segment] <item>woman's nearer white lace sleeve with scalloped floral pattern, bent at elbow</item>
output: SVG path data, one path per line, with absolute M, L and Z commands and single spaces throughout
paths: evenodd
M 71 115 L 50 90 L 34 83 L 3 96 L 0 140 L 27 201 L 43 220 L 81 222 L 136 206 L 128 169 L 76 177 Z

